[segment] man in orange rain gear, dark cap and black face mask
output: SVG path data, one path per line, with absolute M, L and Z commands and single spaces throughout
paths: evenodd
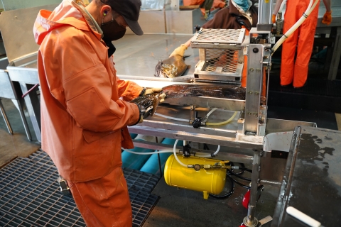
M 127 126 L 141 123 L 144 89 L 116 76 L 104 40 L 142 35 L 140 0 L 63 0 L 41 10 L 33 33 L 38 50 L 41 147 L 67 180 L 87 226 L 132 226 L 121 148 L 134 148 Z M 161 99 L 165 95 L 161 94 Z M 161 100 L 163 101 L 163 100 Z

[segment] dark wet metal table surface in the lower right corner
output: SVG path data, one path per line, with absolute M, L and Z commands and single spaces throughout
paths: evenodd
M 323 226 L 341 221 L 341 132 L 298 127 L 272 226 L 305 226 L 286 213 L 293 206 Z

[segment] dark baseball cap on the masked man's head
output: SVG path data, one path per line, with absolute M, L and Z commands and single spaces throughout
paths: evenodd
M 143 35 L 139 23 L 139 15 L 141 11 L 141 0 L 101 0 L 104 4 L 112 7 L 112 10 L 123 16 L 124 21 L 128 24 L 131 31 L 136 35 Z

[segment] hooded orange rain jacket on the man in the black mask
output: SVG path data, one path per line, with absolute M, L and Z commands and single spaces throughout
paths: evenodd
M 108 175 L 121 166 L 121 147 L 134 148 L 126 126 L 139 121 L 139 107 L 127 101 L 142 87 L 116 76 L 101 34 L 75 1 L 41 10 L 33 33 L 42 149 L 72 182 Z

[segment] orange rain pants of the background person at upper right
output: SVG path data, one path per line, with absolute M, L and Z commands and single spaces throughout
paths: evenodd
M 318 23 L 318 4 L 308 18 L 283 42 L 281 59 L 281 85 L 293 82 L 293 87 L 303 87 L 308 77 L 308 64 L 313 51 L 314 35 Z M 308 8 L 309 0 L 288 0 L 284 15 L 283 33 L 301 18 Z M 297 56 L 295 52 L 297 49 Z

